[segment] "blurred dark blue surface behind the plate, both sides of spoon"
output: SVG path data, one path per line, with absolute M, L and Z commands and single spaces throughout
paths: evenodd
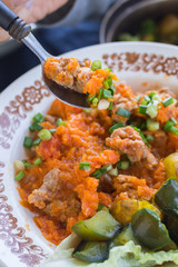
M 98 21 L 85 21 L 75 27 L 38 30 L 36 37 L 48 52 L 57 56 L 98 43 L 99 27 Z M 0 58 L 0 91 L 37 65 L 39 59 L 24 46 Z

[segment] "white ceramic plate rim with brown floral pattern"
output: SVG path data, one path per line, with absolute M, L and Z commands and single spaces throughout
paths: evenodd
M 144 42 L 117 42 L 79 49 L 67 57 L 102 60 L 134 90 L 169 87 L 178 90 L 178 48 Z M 103 65 L 102 65 L 103 66 Z M 13 161 L 23 158 L 22 140 L 31 117 L 44 113 L 53 96 L 41 81 L 41 67 L 30 70 L 0 95 L 0 259 L 8 267 L 39 265 L 52 253 L 29 210 L 19 204 Z

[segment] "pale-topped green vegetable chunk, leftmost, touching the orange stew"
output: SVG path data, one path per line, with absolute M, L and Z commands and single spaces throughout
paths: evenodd
M 98 211 L 88 220 L 80 220 L 72 230 L 86 241 L 107 241 L 111 239 L 121 225 L 106 210 Z

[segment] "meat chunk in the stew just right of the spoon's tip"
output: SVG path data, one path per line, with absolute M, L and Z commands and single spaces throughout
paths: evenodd
M 125 123 L 128 118 L 117 115 L 119 108 L 123 108 L 130 112 L 134 112 L 138 108 L 137 99 L 134 96 L 130 87 L 125 82 L 120 82 L 117 87 L 113 96 L 112 119 Z

